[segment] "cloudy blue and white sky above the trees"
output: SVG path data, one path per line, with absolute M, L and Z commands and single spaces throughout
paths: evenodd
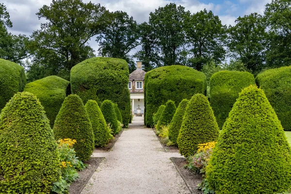
M 90 0 L 83 0 L 89 2 Z M 93 3 L 100 3 L 109 11 L 125 11 L 129 16 L 133 16 L 138 23 L 148 21 L 149 13 L 155 9 L 163 7 L 171 2 L 185 7 L 191 13 L 200 10 L 211 10 L 218 15 L 223 24 L 235 25 L 235 20 L 239 16 L 249 15 L 257 12 L 264 13 L 265 5 L 272 0 L 91 0 Z M 49 5 L 51 0 L 1 0 L 10 14 L 13 28 L 8 29 L 13 34 L 31 35 L 33 31 L 40 28 L 45 20 L 39 20 L 35 15 L 43 5 Z M 97 51 L 98 44 L 95 38 L 89 41 L 90 46 Z M 132 50 L 134 53 L 139 48 Z M 96 52 L 97 54 L 97 52 Z

